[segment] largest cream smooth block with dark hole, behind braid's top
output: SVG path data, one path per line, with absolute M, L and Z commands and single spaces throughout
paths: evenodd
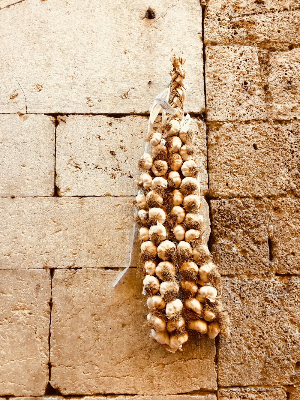
M 118 7 L 98 0 L 88 7 L 81 0 L 29 0 L 4 8 L 0 112 L 24 110 L 25 102 L 30 113 L 149 112 L 168 87 L 174 53 L 187 58 L 186 110 L 202 112 L 199 2 L 153 0 L 154 19 L 145 17 L 148 7 L 146 0 Z

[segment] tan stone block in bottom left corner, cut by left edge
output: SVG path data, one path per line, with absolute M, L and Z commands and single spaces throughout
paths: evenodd
M 0 396 L 40 396 L 49 378 L 51 278 L 0 271 Z

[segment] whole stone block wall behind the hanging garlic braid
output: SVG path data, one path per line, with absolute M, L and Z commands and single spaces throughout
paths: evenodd
M 0 398 L 300 399 L 299 26 L 298 0 L 0 0 Z M 112 283 L 174 52 L 231 336 L 170 354 L 137 246 Z

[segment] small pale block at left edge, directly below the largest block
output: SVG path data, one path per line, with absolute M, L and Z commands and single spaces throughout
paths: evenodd
M 54 118 L 0 115 L 0 196 L 53 196 Z

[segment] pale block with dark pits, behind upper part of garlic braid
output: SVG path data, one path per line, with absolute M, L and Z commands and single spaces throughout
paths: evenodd
M 56 184 L 61 196 L 135 196 L 144 153 L 148 118 L 126 116 L 61 116 L 56 129 Z M 207 188 L 206 129 L 192 120 L 197 132 L 201 192 Z

